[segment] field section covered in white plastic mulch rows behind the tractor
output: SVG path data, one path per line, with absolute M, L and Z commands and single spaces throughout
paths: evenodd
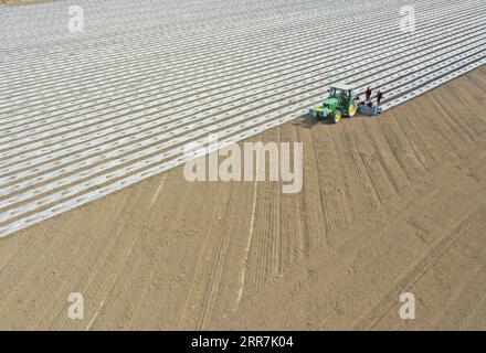
M 209 133 L 221 148 L 302 116 L 330 82 L 382 87 L 388 109 L 486 60 L 475 0 L 82 2 L 75 40 L 70 3 L 0 12 L 19 28 L 0 40 L 0 236 L 179 165 Z

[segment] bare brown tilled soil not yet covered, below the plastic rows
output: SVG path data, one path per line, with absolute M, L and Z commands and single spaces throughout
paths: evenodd
M 304 142 L 299 194 L 177 168 L 0 239 L 0 329 L 485 329 L 485 96 L 254 138 Z

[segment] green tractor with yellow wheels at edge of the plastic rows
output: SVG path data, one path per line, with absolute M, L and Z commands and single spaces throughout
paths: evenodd
M 316 118 L 339 122 L 341 117 L 351 118 L 358 110 L 353 88 L 348 85 L 335 84 L 328 89 L 329 96 L 320 106 L 309 108 L 309 114 Z

